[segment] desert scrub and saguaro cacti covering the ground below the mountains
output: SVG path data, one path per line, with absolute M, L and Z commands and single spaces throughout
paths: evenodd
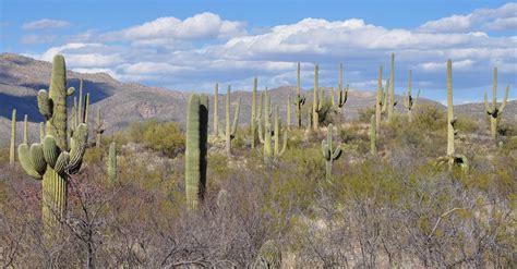
M 49 89 L 38 94 L 40 139 L 24 132 L 19 143 L 13 124 L 0 154 L 0 265 L 513 267 L 517 122 L 502 117 L 508 87 L 497 105 L 494 70 L 490 127 L 455 117 L 449 60 L 447 111 L 411 95 L 409 71 L 398 113 L 394 65 L 392 54 L 389 80 L 383 86 L 380 66 L 375 103 L 353 121 L 342 120 L 342 65 L 337 88 L 320 87 L 315 65 L 312 98 L 302 96 L 298 65 L 294 98 L 284 101 L 289 117 L 255 78 L 250 125 L 239 125 L 230 86 L 224 125 L 217 113 L 208 119 L 218 111 L 216 85 L 212 97 L 191 95 L 185 130 L 147 121 L 103 135 L 109 108 L 88 121 L 83 87 L 68 103 L 74 89 L 57 56 Z

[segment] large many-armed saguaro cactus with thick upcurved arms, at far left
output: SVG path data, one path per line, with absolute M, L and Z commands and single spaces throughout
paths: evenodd
M 50 88 L 48 91 L 39 90 L 37 96 L 39 112 L 46 119 L 46 136 L 41 144 L 28 146 L 24 142 L 17 148 L 20 164 L 25 172 L 43 180 L 43 218 L 47 234 L 58 225 L 65 211 L 69 174 L 79 172 L 88 136 L 84 117 L 70 133 L 69 144 L 67 97 L 73 95 L 74 88 L 67 89 L 65 86 L 64 58 L 58 54 L 52 61 Z

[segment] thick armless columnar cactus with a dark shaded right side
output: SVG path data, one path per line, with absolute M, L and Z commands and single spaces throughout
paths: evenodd
M 206 186 L 208 97 L 191 95 L 187 114 L 185 194 L 190 209 L 203 200 Z

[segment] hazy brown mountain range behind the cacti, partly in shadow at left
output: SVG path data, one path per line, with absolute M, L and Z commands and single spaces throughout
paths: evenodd
M 50 75 L 51 63 L 49 62 L 14 53 L 0 54 L 0 138 L 3 138 L 0 139 L 0 144 L 5 144 L 5 138 L 9 137 L 9 119 L 13 108 L 17 109 L 19 121 L 23 120 L 24 114 L 28 115 L 29 121 L 33 122 L 31 124 L 31 133 L 33 137 L 37 136 L 36 123 L 41 121 L 43 118 L 37 109 L 36 94 L 41 88 L 48 88 Z M 184 124 L 189 93 L 160 87 L 146 87 L 135 83 L 122 83 L 105 73 L 81 74 L 68 71 L 67 75 L 68 86 L 73 86 L 76 89 L 79 89 L 80 78 L 83 78 L 84 90 L 91 94 L 92 99 L 89 119 L 93 121 L 97 109 L 100 109 L 108 134 L 128 126 L 131 122 L 148 119 L 175 121 L 179 122 L 181 126 Z M 280 105 L 280 113 L 285 117 L 287 97 L 290 95 L 293 100 L 296 88 L 284 86 L 272 89 L 269 93 L 273 105 Z M 219 94 L 219 121 L 223 124 L 225 106 L 225 95 L 223 94 L 226 94 L 226 87 L 220 87 Z M 75 95 L 79 95 L 79 90 L 75 91 Z M 310 101 L 312 90 L 308 90 L 303 95 Z M 251 93 L 242 90 L 232 91 L 232 103 L 237 102 L 238 96 L 242 97 L 239 122 L 247 124 L 251 118 Z M 404 107 L 402 100 L 399 96 L 397 99 L 399 102 L 397 109 L 401 110 Z M 347 119 L 357 118 L 358 109 L 369 106 L 373 107 L 374 100 L 375 94 L 373 91 L 350 89 L 348 102 L 344 109 L 345 117 Z M 433 102 L 431 100 L 422 101 Z M 211 106 L 213 107 L 213 102 L 211 102 Z M 458 107 L 458 112 L 466 111 L 469 115 L 482 117 L 478 115 L 478 113 L 482 114 L 483 110 L 478 109 L 478 105 L 462 105 Z M 515 107 L 508 103 L 507 112 L 505 113 L 515 114 Z M 294 106 L 291 107 L 291 114 L 292 121 L 294 121 Z M 19 130 L 21 131 L 21 125 Z

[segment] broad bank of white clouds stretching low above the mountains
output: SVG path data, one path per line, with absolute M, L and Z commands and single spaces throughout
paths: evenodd
M 510 27 L 513 7 L 428 22 L 425 30 L 423 26 L 386 28 L 361 19 L 309 17 L 250 34 L 243 22 L 225 21 L 213 13 L 185 20 L 159 17 L 116 32 L 79 34 L 38 58 L 51 60 L 63 53 L 75 71 L 185 90 L 212 90 L 216 82 L 250 88 L 255 75 L 261 86 L 294 85 L 298 61 L 302 62 L 303 87 L 312 87 L 314 63 L 321 65 L 322 86 L 335 86 L 342 62 L 345 83 L 374 89 L 378 65 L 384 65 L 385 78 L 389 54 L 395 52 L 396 90 L 407 85 L 411 69 L 414 87 L 421 87 L 425 96 L 426 89 L 443 89 L 447 59 L 453 59 L 460 74 L 455 76 L 459 77 L 456 88 L 490 85 L 493 66 L 498 66 L 502 83 L 516 83 L 517 37 L 493 36 L 489 29 Z M 476 21 L 480 14 L 491 20 Z M 446 27 L 452 21 L 455 29 Z

